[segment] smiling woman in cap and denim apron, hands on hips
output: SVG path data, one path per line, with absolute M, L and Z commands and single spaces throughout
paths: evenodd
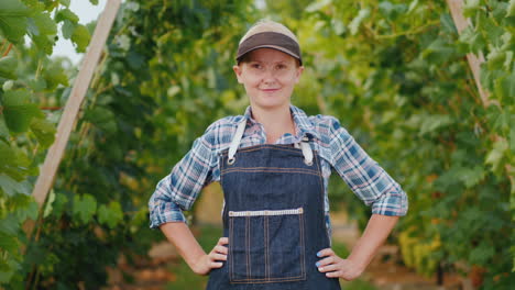
M 244 115 L 211 124 L 165 177 L 149 207 L 208 289 L 340 289 L 359 277 L 398 216 L 401 187 L 332 116 L 307 116 L 291 104 L 303 74 L 296 36 L 261 21 L 242 37 L 233 67 L 250 99 Z M 372 216 L 349 257 L 330 248 L 327 183 L 336 170 Z M 201 188 L 220 181 L 223 237 L 206 254 L 184 223 Z

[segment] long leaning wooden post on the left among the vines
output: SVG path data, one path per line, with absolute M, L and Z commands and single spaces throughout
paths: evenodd
M 112 23 L 114 22 L 118 9 L 120 8 L 120 2 L 121 0 L 108 0 L 106 8 L 97 22 L 88 52 L 83 59 L 80 70 L 75 79 L 69 99 L 66 102 L 66 107 L 57 126 L 55 142 L 46 154 L 45 163 L 40 170 L 40 176 L 37 177 L 34 191 L 32 192 L 40 209 L 43 207 L 46 196 L 54 183 L 54 178 L 57 172 L 57 168 L 59 167 L 61 159 L 63 158 L 66 144 L 68 143 L 69 134 L 75 126 L 77 113 L 80 109 L 80 104 L 83 103 L 84 96 L 88 90 L 89 82 L 91 81 Z

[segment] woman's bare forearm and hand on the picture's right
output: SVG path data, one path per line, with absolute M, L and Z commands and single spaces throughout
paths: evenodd
M 330 278 L 353 280 L 369 266 L 380 246 L 392 232 L 398 216 L 372 214 L 363 235 L 352 248 L 347 259 L 338 257 L 331 248 L 325 248 L 317 255 L 325 257 L 317 263 L 318 270 Z

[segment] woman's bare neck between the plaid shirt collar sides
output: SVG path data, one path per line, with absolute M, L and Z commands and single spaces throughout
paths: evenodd
M 295 135 L 295 123 L 289 105 L 273 110 L 252 107 L 252 118 L 264 126 L 267 144 L 274 144 L 286 133 Z

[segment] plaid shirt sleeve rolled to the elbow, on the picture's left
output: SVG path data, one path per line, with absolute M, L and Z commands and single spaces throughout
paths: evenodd
M 202 135 L 172 172 L 157 183 L 149 200 L 151 228 L 168 222 L 186 222 L 183 211 L 189 210 L 200 190 L 211 182 L 215 155 L 211 144 Z

